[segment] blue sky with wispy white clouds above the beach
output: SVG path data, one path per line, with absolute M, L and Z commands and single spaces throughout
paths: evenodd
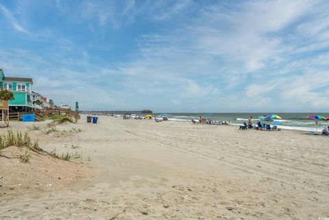
M 328 112 L 329 1 L 0 0 L 0 68 L 84 110 Z

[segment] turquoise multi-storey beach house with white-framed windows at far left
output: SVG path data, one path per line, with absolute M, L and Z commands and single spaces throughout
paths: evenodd
M 32 78 L 6 77 L 0 69 L 0 86 L 14 93 L 14 99 L 9 101 L 13 112 L 28 112 L 32 110 Z

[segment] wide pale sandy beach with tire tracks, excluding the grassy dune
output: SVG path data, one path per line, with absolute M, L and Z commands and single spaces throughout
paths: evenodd
M 106 116 L 90 124 L 85 115 L 58 125 L 80 128 L 76 134 L 31 125 L 12 122 L 11 129 L 28 131 L 47 151 L 79 152 L 71 164 L 88 171 L 47 190 L 4 195 L 0 187 L 0 219 L 329 218 L 327 136 Z M 24 187 L 12 184 L 6 187 Z

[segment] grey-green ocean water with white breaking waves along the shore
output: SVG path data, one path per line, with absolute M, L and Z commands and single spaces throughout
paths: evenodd
M 163 113 L 163 112 L 161 112 Z M 154 116 L 158 116 L 161 113 L 154 113 Z M 249 117 L 253 117 L 253 123 L 256 124 L 259 119 L 257 117 L 267 114 L 278 114 L 282 117 L 282 120 L 275 120 L 278 121 L 277 123 L 282 123 L 281 125 L 277 125 L 282 129 L 287 130 L 304 130 L 304 131 L 321 131 L 324 127 L 329 126 L 329 121 L 318 121 L 318 124 L 315 124 L 315 120 L 313 119 L 306 119 L 308 115 L 311 114 L 319 114 L 324 117 L 329 117 L 329 113 L 268 113 L 268 112 L 260 112 L 260 113 L 170 113 L 173 117 L 169 118 L 172 121 L 191 121 L 191 119 L 199 120 L 199 117 L 206 117 L 210 118 L 213 121 L 230 121 L 233 125 L 242 125 L 244 121 L 247 122 Z M 265 122 L 261 121 L 262 123 L 269 123 L 273 125 L 273 122 Z M 275 123 L 275 122 L 274 122 Z

